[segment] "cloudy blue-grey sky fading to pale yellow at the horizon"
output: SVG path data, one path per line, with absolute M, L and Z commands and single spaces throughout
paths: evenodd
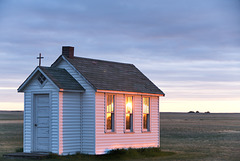
M 239 0 L 0 0 L 0 110 L 62 46 L 134 64 L 165 94 L 161 112 L 240 112 Z

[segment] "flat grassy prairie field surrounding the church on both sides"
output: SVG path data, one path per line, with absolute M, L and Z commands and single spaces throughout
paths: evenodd
M 22 127 L 21 112 L 0 112 L 1 161 L 13 160 L 2 158 L 2 154 L 14 152 L 22 147 Z M 161 113 L 161 150 L 175 154 L 162 153 L 163 156 L 134 160 L 239 161 L 240 114 Z M 73 156 L 47 160 L 90 161 L 113 158 Z M 31 160 L 26 159 L 26 161 Z

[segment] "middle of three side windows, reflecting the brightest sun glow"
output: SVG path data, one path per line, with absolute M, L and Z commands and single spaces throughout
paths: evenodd
M 133 97 L 126 98 L 126 130 L 133 131 Z

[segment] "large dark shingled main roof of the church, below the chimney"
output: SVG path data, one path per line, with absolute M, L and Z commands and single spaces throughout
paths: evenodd
M 83 77 L 85 77 L 95 90 L 164 95 L 164 93 L 133 64 L 75 56 L 73 58 L 62 56 L 62 58 L 72 64 L 72 66 L 82 74 Z M 57 63 L 57 61 L 55 63 Z M 55 66 L 55 63 L 53 63 L 52 66 Z

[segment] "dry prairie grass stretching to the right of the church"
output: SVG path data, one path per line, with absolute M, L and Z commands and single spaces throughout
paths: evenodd
M 170 159 L 240 160 L 240 114 L 161 113 L 161 149 Z

